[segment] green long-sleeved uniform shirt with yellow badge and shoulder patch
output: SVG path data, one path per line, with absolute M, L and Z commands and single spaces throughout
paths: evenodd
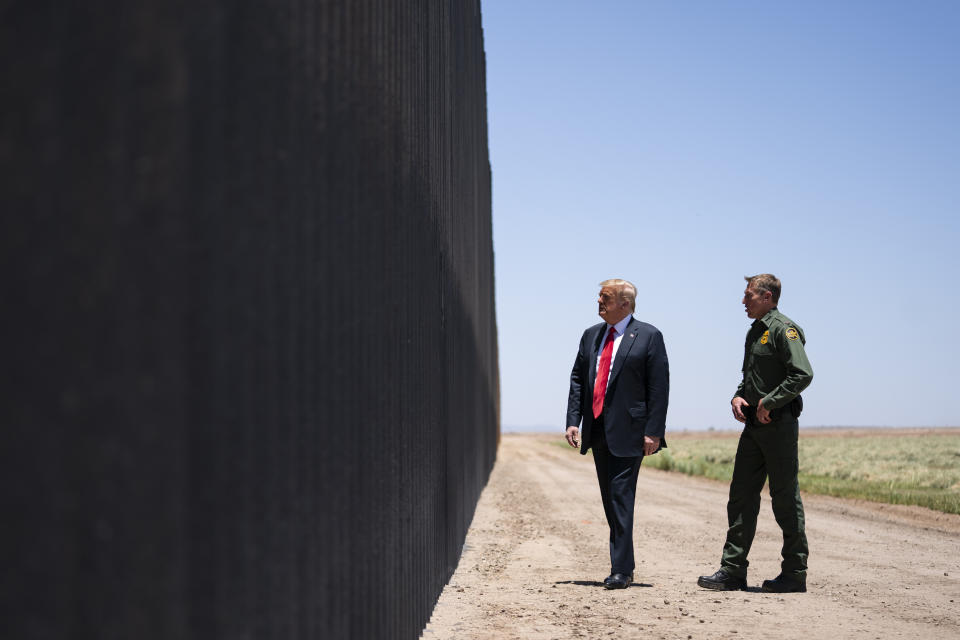
M 743 353 L 743 380 L 734 397 L 756 407 L 779 409 L 813 380 L 813 367 L 803 349 L 803 329 L 776 307 L 753 321 Z

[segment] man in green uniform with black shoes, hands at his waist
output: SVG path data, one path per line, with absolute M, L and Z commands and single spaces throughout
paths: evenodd
M 697 584 L 720 591 L 747 588 L 747 554 L 757 530 L 760 491 L 769 476 L 773 515 L 783 531 L 780 575 L 762 589 L 806 591 L 807 536 L 797 484 L 800 392 L 813 380 L 803 329 L 780 313 L 780 280 L 769 273 L 744 278 L 743 305 L 753 325 L 743 354 L 743 380 L 730 404 L 746 426 L 740 434 L 727 502 L 727 540 L 720 570 Z

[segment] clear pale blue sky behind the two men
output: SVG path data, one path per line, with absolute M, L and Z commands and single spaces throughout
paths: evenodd
M 668 429 L 737 426 L 761 272 L 802 425 L 960 425 L 960 2 L 482 9 L 504 430 L 563 429 L 609 277 L 664 334 Z

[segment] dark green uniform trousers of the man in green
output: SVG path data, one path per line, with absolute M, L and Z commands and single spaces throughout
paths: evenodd
M 773 515 L 783 531 L 781 570 L 796 578 L 806 578 L 809 549 L 797 483 L 798 435 L 797 419 L 789 413 L 769 424 L 751 420 L 740 434 L 727 502 L 729 529 L 720 561 L 729 575 L 747 575 L 747 554 L 757 531 L 760 492 L 769 476 Z

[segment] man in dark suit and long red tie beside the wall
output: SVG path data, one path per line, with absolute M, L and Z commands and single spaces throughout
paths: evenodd
M 637 473 L 644 455 L 667 446 L 667 351 L 660 331 L 633 317 L 636 298 L 637 288 L 626 280 L 600 283 L 597 304 L 604 321 L 580 339 L 567 401 L 567 442 L 583 455 L 593 449 L 610 526 L 607 589 L 625 589 L 633 581 Z

